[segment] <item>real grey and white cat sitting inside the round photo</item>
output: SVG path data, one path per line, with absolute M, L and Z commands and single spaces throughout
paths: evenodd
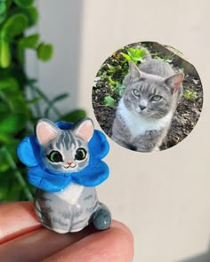
M 182 97 L 184 75 L 165 61 L 129 63 L 125 92 L 112 125 L 112 139 L 138 152 L 159 151 Z

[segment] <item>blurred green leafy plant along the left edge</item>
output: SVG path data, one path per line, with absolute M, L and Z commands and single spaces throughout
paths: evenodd
M 34 0 L 0 0 L 0 201 L 32 200 L 35 188 L 26 179 L 26 168 L 19 162 L 16 147 L 33 132 L 41 117 L 53 121 L 76 122 L 85 117 L 77 109 L 64 115 L 56 107 L 67 99 L 60 93 L 49 99 L 37 79 L 26 73 L 25 52 L 32 49 L 38 60 L 52 58 L 52 44 L 40 40 L 39 34 L 28 35 L 28 28 L 38 22 Z M 40 106 L 40 103 L 42 107 Z

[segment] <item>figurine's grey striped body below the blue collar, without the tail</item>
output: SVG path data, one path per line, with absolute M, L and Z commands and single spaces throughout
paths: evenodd
M 65 190 L 69 190 L 67 187 Z M 91 222 L 93 213 L 101 208 L 94 187 L 84 187 L 77 202 L 70 204 L 61 193 L 36 191 L 36 216 L 42 224 L 59 233 L 77 232 Z

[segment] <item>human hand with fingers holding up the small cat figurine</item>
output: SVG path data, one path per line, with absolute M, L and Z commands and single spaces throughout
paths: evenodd
M 0 205 L 0 261 L 130 262 L 133 236 L 113 221 L 105 231 L 87 226 L 77 233 L 57 234 L 37 220 L 32 202 Z

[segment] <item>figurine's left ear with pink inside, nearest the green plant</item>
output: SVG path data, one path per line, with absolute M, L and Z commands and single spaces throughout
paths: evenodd
M 55 139 L 61 130 L 50 120 L 40 119 L 35 126 L 36 139 L 41 146 L 45 146 L 47 143 Z

